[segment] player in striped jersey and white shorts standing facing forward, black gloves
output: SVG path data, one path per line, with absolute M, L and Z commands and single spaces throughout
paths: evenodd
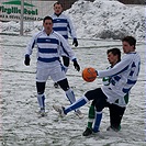
M 57 32 L 53 31 L 53 19 L 45 16 L 43 20 L 44 29 L 36 33 L 26 47 L 24 64 L 30 66 L 30 55 L 32 55 L 33 48 L 37 45 L 37 64 L 36 64 L 36 89 L 37 89 L 37 101 L 40 104 L 40 113 L 42 116 L 45 115 L 45 85 L 50 77 L 57 82 L 60 88 L 65 91 L 66 97 L 74 103 L 76 101 L 74 91 L 68 85 L 64 67 L 59 60 L 58 52 L 61 48 L 66 50 L 66 54 L 74 61 L 75 69 L 80 70 L 80 66 L 75 57 L 75 54 L 66 40 Z M 79 110 L 76 110 L 77 114 L 80 114 Z

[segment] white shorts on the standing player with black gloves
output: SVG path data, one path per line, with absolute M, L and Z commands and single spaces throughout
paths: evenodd
M 37 67 L 36 81 L 46 82 L 49 76 L 54 82 L 66 79 L 66 74 L 61 65 L 54 67 Z

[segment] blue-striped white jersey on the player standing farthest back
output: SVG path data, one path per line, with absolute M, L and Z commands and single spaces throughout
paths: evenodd
M 71 38 L 77 38 L 74 25 L 71 20 L 65 14 L 56 15 L 55 13 L 52 15 L 53 19 L 53 30 L 61 34 L 66 40 L 68 40 L 68 32 Z

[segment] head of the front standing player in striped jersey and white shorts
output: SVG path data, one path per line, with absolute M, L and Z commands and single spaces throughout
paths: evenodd
M 43 26 L 46 34 L 50 34 L 53 31 L 53 19 L 50 16 L 45 16 L 43 20 Z

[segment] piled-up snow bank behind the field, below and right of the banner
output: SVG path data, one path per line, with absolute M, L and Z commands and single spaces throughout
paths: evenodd
M 145 5 L 125 5 L 116 0 L 79 0 L 65 13 L 74 21 L 79 38 L 120 40 L 133 35 L 138 41 L 145 40 Z M 42 29 L 42 22 L 32 23 L 24 25 L 26 34 Z M 0 30 L 19 33 L 19 25 L 16 22 L 0 23 Z

